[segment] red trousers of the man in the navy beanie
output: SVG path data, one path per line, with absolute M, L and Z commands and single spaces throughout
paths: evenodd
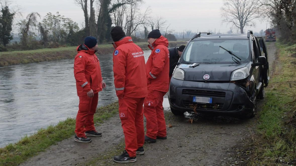
M 76 116 L 75 133 L 78 137 L 85 136 L 85 131 L 96 130 L 94 127 L 94 113 L 98 105 L 99 93 L 94 97 L 79 96 L 79 110 Z

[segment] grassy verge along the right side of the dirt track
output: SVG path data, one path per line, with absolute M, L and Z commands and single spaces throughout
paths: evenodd
M 296 45 L 277 43 L 248 165 L 296 165 Z

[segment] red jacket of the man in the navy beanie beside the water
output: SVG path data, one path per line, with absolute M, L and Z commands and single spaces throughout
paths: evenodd
M 91 89 L 94 93 L 102 91 L 102 74 L 99 58 L 95 51 L 82 44 L 77 47 L 74 59 L 74 77 L 78 96 L 85 96 Z

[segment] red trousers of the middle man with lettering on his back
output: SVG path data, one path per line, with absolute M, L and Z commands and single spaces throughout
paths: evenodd
M 124 140 L 126 143 L 125 149 L 126 149 L 126 152 L 128 152 L 128 155 L 130 157 L 135 157 L 136 150 L 138 149 L 137 131 L 136 131 L 137 128 L 135 123 L 137 121 L 141 121 L 141 120 L 136 121 L 136 118 L 139 118 L 136 115 L 136 110 L 140 100 L 141 100 L 140 98 L 130 98 L 130 97 L 124 97 L 123 99 L 118 100 L 119 110 L 121 110 L 121 108 L 127 108 L 127 109 L 123 109 L 125 117 L 124 118 L 120 117 L 120 120 L 121 120 L 121 126 L 123 128 Z M 119 116 L 122 116 L 122 115 L 119 114 Z M 141 130 L 144 131 L 144 125 L 143 125 L 143 129 Z

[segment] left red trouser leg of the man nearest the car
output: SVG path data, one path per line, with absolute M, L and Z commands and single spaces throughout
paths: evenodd
M 144 115 L 146 117 L 146 135 L 156 139 L 158 132 L 156 106 L 160 100 L 162 92 L 148 89 L 148 96 L 144 100 Z

